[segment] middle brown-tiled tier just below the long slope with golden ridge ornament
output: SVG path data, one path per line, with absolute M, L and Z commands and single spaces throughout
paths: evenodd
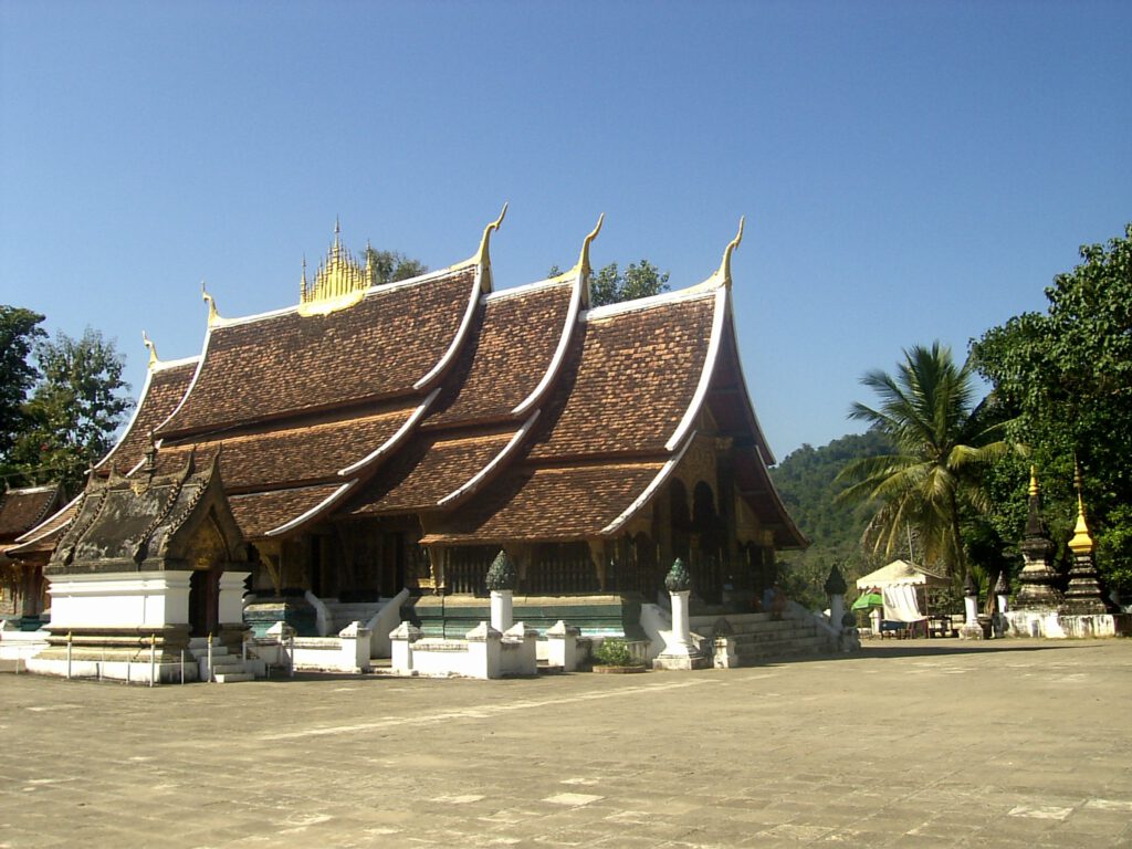
M 158 474 L 185 465 L 196 449 L 196 462 L 221 451 L 221 480 L 229 494 L 249 489 L 277 489 L 317 481 L 338 480 L 340 470 L 365 458 L 405 424 L 415 408 L 401 406 L 370 415 L 231 436 L 215 441 L 162 447 Z

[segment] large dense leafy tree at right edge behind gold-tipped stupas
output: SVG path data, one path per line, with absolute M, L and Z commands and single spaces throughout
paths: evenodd
M 1083 246 L 1081 259 L 1045 290 L 1045 314 L 987 331 L 971 359 L 1014 417 L 1010 435 L 1037 468 L 1055 540 L 1077 515 L 1075 454 L 1097 565 L 1132 592 L 1132 224 L 1107 246 Z M 1024 478 L 1017 487 L 1024 504 Z M 1022 515 L 1001 511 L 995 521 L 1020 534 Z

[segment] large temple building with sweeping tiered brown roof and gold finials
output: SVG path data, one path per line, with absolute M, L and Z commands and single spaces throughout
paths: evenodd
M 53 617 L 53 632 L 91 618 L 89 581 L 138 572 L 208 573 L 154 585 L 190 632 L 231 626 L 218 612 L 232 609 L 231 571 L 256 599 L 294 604 L 404 588 L 406 618 L 443 633 L 486 618 L 500 549 L 517 565 L 516 608 L 547 623 L 568 610 L 628 628 L 677 557 L 694 604 L 749 610 L 775 552 L 807 543 L 771 483 L 740 366 L 741 223 L 705 281 L 593 307 L 600 221 L 571 271 L 497 291 L 501 222 L 466 261 L 384 285 L 336 228 L 312 277 L 303 267 L 298 305 L 226 318 L 204 293 L 199 355 L 162 361 L 146 340 L 134 420 L 87 494 L 28 538 L 57 546 L 53 612 L 88 576 L 87 607 Z M 208 509 L 185 501 L 190 483 Z M 131 492 L 149 506 L 127 504 Z M 181 540 L 160 556 L 145 542 L 158 528 Z

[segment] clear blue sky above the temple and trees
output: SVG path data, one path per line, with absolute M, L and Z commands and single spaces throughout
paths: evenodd
M 779 458 L 901 350 L 1045 306 L 1132 221 L 1127 2 L 0 0 L 0 302 L 199 351 L 293 303 L 335 216 L 497 288 L 719 264 Z

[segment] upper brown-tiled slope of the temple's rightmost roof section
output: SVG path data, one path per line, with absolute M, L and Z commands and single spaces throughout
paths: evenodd
M 586 320 L 530 457 L 666 453 L 698 386 L 714 307 L 706 292 Z

